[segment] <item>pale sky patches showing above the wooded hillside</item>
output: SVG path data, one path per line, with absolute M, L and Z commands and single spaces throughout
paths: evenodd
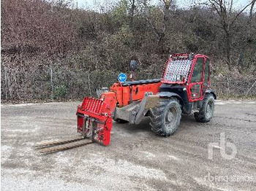
M 116 4 L 116 2 L 118 2 L 118 0 L 72 0 L 74 2 L 74 4 L 76 4 L 76 2 L 78 2 L 78 7 L 80 8 L 84 8 L 84 9 L 94 9 L 97 10 L 97 7 L 102 7 L 102 5 L 104 5 L 104 7 L 106 7 L 106 9 L 108 9 L 108 7 L 111 7 L 113 4 Z M 178 7 L 184 7 L 184 8 L 188 8 L 190 6 L 192 6 L 193 1 L 197 2 L 199 0 L 176 0 L 176 4 L 178 5 Z M 151 0 L 151 4 L 159 4 L 159 2 L 161 2 L 161 0 Z M 234 0 L 234 7 L 236 9 L 241 9 L 242 7 L 246 6 L 246 4 L 248 4 L 249 0 Z

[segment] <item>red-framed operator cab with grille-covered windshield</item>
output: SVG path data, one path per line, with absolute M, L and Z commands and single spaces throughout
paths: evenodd
M 187 101 L 202 101 L 210 86 L 210 61 L 206 55 L 174 54 L 167 61 L 160 92 L 173 90 Z M 169 90 L 168 90 L 169 89 Z

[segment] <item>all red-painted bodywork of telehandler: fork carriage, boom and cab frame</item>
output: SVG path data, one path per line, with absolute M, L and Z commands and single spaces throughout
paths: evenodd
M 116 82 L 110 87 L 110 91 L 102 93 L 98 98 L 84 98 L 81 106 L 78 106 L 78 132 L 85 134 L 89 132 L 90 125 L 94 125 L 92 138 L 107 146 L 110 143 L 110 130 L 112 127 L 111 114 L 113 114 L 116 106 L 122 107 L 132 103 L 132 101 L 142 101 L 146 92 L 153 94 L 159 93 L 159 87 L 162 83 L 183 85 L 187 89 L 187 98 L 189 102 L 203 100 L 203 80 L 202 82 L 190 83 L 192 78 L 192 71 L 195 66 L 197 58 L 203 58 L 203 71 L 205 69 L 206 56 L 193 55 L 192 63 L 189 69 L 186 68 L 187 77 L 185 80 L 180 79 L 176 82 L 165 80 L 167 72 L 167 65 L 172 59 L 188 60 L 189 54 L 174 54 L 166 62 L 166 69 L 162 75 L 161 82 L 141 83 L 141 84 L 127 84 L 122 85 L 121 82 Z M 190 61 L 190 60 L 189 60 Z M 202 74 L 202 79 L 204 76 Z M 207 87 L 209 86 L 209 78 Z M 199 87 L 200 95 L 197 98 L 192 98 L 192 88 Z M 205 88 L 206 89 L 206 88 Z

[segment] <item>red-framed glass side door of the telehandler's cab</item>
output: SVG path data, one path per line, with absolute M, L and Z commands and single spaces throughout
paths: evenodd
M 203 69 L 205 57 L 197 56 L 189 78 L 189 90 L 187 91 L 189 101 L 200 101 L 203 99 Z

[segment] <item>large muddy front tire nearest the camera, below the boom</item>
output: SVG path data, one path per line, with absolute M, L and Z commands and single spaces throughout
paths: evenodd
M 151 109 L 151 130 L 159 136 L 170 136 L 176 132 L 181 121 L 181 105 L 176 98 L 160 98 Z

